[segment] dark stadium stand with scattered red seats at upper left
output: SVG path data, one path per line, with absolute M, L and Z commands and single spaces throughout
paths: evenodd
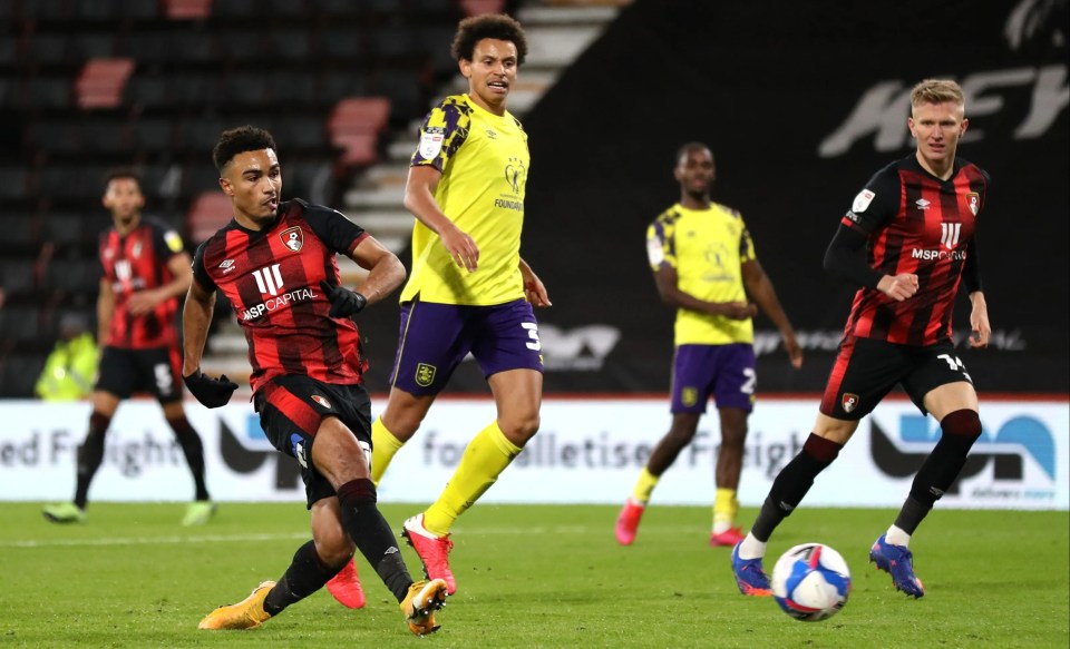
M 146 215 L 192 246 L 226 220 L 212 146 L 223 129 L 256 124 L 279 139 L 284 198 L 341 205 L 391 129 L 419 119 L 456 72 L 449 38 L 473 10 L 460 0 L 0 4 L 0 226 L 12 242 L 0 265 L 0 396 L 31 394 L 58 313 L 94 315 L 109 168 L 137 169 Z

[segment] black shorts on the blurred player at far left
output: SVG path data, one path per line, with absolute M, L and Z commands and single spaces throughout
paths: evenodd
M 177 347 L 126 350 L 105 346 L 95 390 L 129 399 L 152 392 L 159 403 L 182 400 L 182 358 Z

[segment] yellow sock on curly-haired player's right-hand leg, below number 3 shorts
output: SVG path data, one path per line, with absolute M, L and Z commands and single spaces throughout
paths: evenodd
M 468 442 L 441 495 L 424 512 L 427 531 L 438 535 L 448 534 L 457 517 L 479 500 L 521 450 L 506 439 L 497 421 L 479 431 Z

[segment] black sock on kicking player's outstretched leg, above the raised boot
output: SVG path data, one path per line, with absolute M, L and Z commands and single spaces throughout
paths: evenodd
M 409 577 L 409 569 L 405 566 L 390 525 L 376 507 L 376 485 L 367 478 L 347 482 L 338 488 L 338 502 L 346 532 L 393 597 L 402 601 L 409 592 L 412 578 Z

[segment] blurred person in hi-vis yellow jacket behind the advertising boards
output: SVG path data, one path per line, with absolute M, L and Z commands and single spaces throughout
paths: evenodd
M 86 318 L 67 314 L 59 322 L 59 340 L 45 361 L 33 393 L 43 401 L 78 401 L 93 394 L 97 375 L 97 342 Z

